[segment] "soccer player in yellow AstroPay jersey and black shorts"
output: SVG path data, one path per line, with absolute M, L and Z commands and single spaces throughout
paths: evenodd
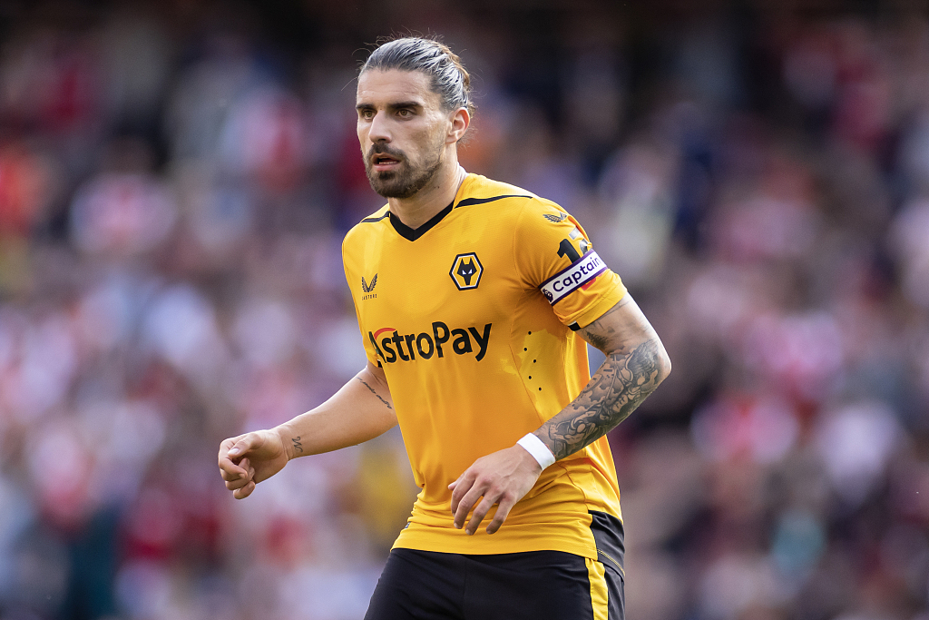
M 429 39 L 388 42 L 362 66 L 361 153 L 387 199 L 343 244 L 367 366 L 319 407 L 222 442 L 219 468 L 242 499 L 296 456 L 399 423 L 422 491 L 369 620 L 616 620 L 606 434 L 671 363 L 580 223 L 458 164 L 469 91 Z M 584 341 L 607 356 L 593 377 Z

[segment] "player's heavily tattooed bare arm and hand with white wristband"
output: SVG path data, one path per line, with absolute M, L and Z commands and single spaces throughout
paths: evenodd
M 628 294 L 578 334 L 607 359 L 576 399 L 532 433 L 556 460 L 614 429 L 671 372 L 661 339 Z M 474 534 L 493 505 L 499 504 L 487 526 L 488 534 L 493 534 L 541 473 L 539 462 L 518 444 L 478 458 L 449 485 L 455 527 L 463 527 L 468 512 L 477 506 L 466 528 Z

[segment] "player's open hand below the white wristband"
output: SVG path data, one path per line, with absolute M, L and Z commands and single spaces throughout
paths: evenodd
M 461 529 L 467 513 L 475 508 L 468 521 L 467 534 L 478 531 L 494 504 L 499 504 L 487 533 L 493 534 L 504 524 L 510 508 L 522 499 L 539 480 L 542 467 L 522 446 L 515 445 L 491 455 L 481 456 L 474 465 L 464 470 L 458 480 L 449 484 L 451 489 L 451 513 L 455 516 L 455 527 Z

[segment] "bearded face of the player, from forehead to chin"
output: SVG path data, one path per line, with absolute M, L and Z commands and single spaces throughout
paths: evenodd
M 374 191 L 410 198 L 444 161 L 449 114 L 425 73 L 370 70 L 358 78 L 358 139 Z

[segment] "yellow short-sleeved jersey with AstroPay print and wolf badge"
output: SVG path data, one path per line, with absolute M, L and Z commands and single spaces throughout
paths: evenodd
M 448 485 L 514 445 L 590 380 L 574 331 L 625 295 L 581 225 L 529 191 L 468 175 L 413 230 L 385 205 L 342 245 L 368 359 L 384 369 L 422 489 L 394 547 L 558 550 L 595 560 L 590 511 L 622 518 L 603 437 L 546 468 L 496 534 L 452 525 Z

